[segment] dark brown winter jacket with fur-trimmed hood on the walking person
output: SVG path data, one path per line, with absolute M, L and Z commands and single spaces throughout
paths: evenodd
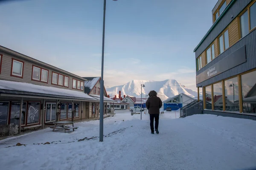
M 159 97 L 157 97 L 157 92 L 151 91 L 148 94 L 148 100 L 146 102 L 146 107 L 149 114 L 159 114 L 159 109 L 162 107 L 163 103 Z

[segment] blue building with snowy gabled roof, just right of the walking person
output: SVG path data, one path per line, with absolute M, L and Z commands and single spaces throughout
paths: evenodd
M 166 111 L 166 108 L 170 107 L 172 111 L 177 111 L 193 101 L 196 101 L 196 99 L 181 93 L 163 101 L 163 110 Z

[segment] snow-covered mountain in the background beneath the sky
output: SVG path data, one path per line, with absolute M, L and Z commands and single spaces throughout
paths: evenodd
M 176 96 L 179 93 L 183 93 L 191 97 L 197 97 L 197 91 L 193 91 L 186 88 L 184 85 L 180 85 L 180 83 L 175 79 L 167 79 L 164 81 L 132 80 L 124 85 L 106 88 L 106 91 L 110 96 L 118 96 L 119 91 L 121 91 L 121 96 L 129 95 L 140 98 L 141 84 L 145 85 L 145 87 L 142 88 L 143 98 L 145 98 L 145 95 L 151 90 L 156 91 L 157 96 L 159 96 L 162 101 L 169 97 Z

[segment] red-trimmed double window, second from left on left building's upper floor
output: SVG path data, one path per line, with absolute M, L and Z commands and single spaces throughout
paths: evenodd
M 48 70 L 32 65 L 32 80 L 48 83 L 48 73 Z

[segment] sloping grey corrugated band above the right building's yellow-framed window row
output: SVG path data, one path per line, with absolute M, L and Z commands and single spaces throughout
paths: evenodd
M 195 58 L 197 58 L 202 52 L 218 37 L 221 32 L 227 28 L 233 19 L 251 2 L 252 0 L 236 0 L 231 8 L 227 11 L 224 17 L 221 18 L 217 26 L 212 30 L 208 37 L 204 40 L 201 46 L 195 51 Z M 233 15 L 233 19 L 231 16 Z

